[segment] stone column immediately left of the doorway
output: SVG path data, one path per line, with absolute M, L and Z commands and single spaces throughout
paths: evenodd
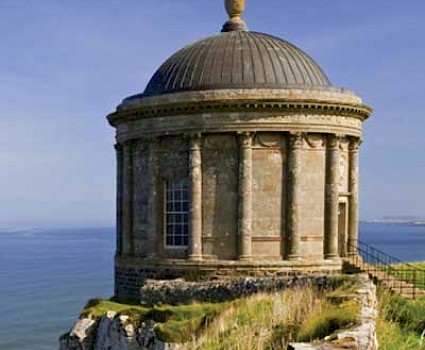
M 325 259 L 338 258 L 338 211 L 339 211 L 339 149 L 340 137 L 329 135 L 327 139 L 325 184 Z

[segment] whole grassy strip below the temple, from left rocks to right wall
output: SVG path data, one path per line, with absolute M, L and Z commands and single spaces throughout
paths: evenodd
M 115 311 L 129 316 L 127 322 L 136 327 L 152 319 L 160 340 L 189 342 L 197 350 L 274 350 L 286 348 L 289 341 L 322 339 L 355 325 L 360 305 L 352 290 L 353 282 L 342 283 L 332 292 L 307 285 L 225 303 L 152 308 L 93 299 L 81 316 L 97 319 Z

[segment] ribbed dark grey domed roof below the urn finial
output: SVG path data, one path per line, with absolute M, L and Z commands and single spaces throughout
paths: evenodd
M 322 69 L 296 46 L 268 34 L 236 30 L 205 38 L 175 53 L 156 71 L 142 96 L 329 86 Z

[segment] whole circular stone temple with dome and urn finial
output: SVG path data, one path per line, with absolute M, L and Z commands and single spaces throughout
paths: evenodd
M 371 108 L 302 50 L 249 32 L 172 55 L 116 128 L 115 294 L 146 278 L 332 273 L 358 237 L 358 148 Z

